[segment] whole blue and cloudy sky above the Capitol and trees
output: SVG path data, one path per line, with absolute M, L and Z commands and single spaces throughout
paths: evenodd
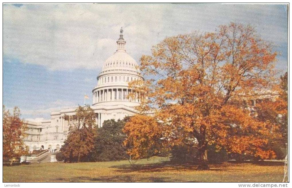
M 4 4 L 3 103 L 23 118 L 90 99 L 103 62 L 123 27 L 126 50 L 139 62 L 167 36 L 214 31 L 237 22 L 256 27 L 287 68 L 286 5 L 264 4 Z

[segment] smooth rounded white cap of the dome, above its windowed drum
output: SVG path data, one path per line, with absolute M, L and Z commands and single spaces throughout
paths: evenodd
M 140 72 L 137 66 L 135 59 L 126 51 L 117 51 L 104 62 L 102 72 L 118 69 Z

